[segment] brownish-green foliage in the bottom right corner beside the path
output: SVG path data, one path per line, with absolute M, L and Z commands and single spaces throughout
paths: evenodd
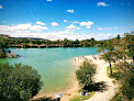
M 113 76 L 121 85 L 111 101 L 131 101 L 134 99 L 134 66 L 129 63 L 114 65 Z

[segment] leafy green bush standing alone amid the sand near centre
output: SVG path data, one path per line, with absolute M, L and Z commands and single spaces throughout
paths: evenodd
M 76 77 L 81 85 L 89 85 L 92 82 L 92 77 L 96 74 L 96 66 L 88 60 L 85 60 L 79 69 L 76 71 Z

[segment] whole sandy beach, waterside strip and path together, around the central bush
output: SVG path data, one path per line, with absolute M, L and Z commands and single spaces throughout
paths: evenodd
M 107 77 L 107 67 L 109 66 L 108 63 L 105 63 L 102 59 L 99 59 L 99 55 L 90 55 L 90 56 L 80 56 L 74 58 L 74 63 L 76 66 L 80 66 L 85 59 L 90 59 L 93 64 L 97 65 L 97 74 L 94 76 L 94 81 L 96 82 L 104 82 L 107 86 L 107 89 L 104 91 L 97 91 L 96 94 L 86 101 L 109 101 L 115 93 L 116 86 L 112 83 L 112 79 Z M 78 68 L 76 68 L 78 69 Z M 69 101 L 70 98 L 76 96 L 78 93 L 78 90 L 80 89 L 78 86 L 78 81 L 76 80 L 75 71 L 72 74 L 72 81 L 71 81 L 71 87 L 68 88 L 68 90 L 65 91 L 59 91 L 59 93 L 63 94 L 63 98 L 60 99 L 62 101 Z M 46 97 L 51 97 L 53 99 L 56 93 L 44 93 Z M 40 94 L 36 98 L 42 98 L 43 94 Z

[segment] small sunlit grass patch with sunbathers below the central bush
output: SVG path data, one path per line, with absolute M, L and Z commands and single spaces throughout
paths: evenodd
M 79 92 L 78 92 L 79 93 Z M 74 98 L 71 98 L 69 101 L 82 101 L 82 100 L 88 100 L 91 97 L 93 97 L 93 94 L 96 93 L 96 91 L 92 92 L 88 92 L 90 93 L 90 96 L 86 97 L 86 96 L 74 96 Z

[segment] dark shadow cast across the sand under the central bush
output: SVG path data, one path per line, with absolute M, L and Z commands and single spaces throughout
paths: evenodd
M 101 82 L 96 82 L 93 85 L 85 86 L 82 89 L 88 90 L 90 92 L 92 91 L 103 92 L 108 89 L 108 85 L 104 81 L 101 81 Z

